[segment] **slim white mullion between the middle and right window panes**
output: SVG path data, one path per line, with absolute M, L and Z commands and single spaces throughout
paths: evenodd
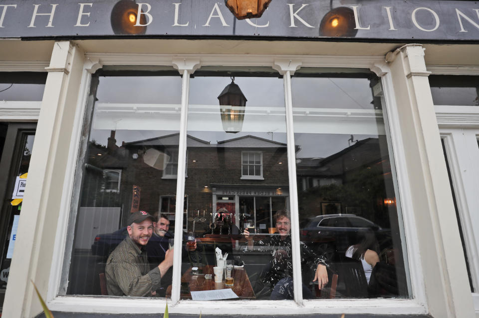
M 299 216 L 298 216 L 298 195 L 296 186 L 296 155 L 294 149 L 293 130 L 293 102 L 291 97 L 291 73 L 287 70 L 283 75 L 284 83 L 284 104 L 286 106 L 286 138 L 288 153 L 288 175 L 289 175 L 289 203 L 291 216 L 291 244 L 293 263 L 293 289 L 294 301 L 298 305 L 303 303 L 301 258 L 299 251 Z

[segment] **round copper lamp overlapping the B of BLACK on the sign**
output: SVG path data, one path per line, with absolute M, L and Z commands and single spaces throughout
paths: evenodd
M 120 0 L 111 9 L 110 22 L 115 34 L 145 34 L 146 25 L 135 26 L 138 4 L 135 0 Z M 145 14 L 140 14 L 140 24 L 146 24 Z

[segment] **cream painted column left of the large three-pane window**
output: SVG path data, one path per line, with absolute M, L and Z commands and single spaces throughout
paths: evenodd
M 46 298 L 68 149 L 82 76 L 83 53 L 69 41 L 53 45 L 35 134 L 28 184 L 3 305 L 3 317 L 42 310 L 30 282 Z

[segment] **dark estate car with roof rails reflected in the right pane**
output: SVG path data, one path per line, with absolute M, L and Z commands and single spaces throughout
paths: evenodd
M 344 255 L 351 245 L 359 243 L 361 232 L 371 230 L 381 249 L 391 245 L 390 229 L 354 214 L 318 215 L 303 222 L 299 234 L 303 243 L 332 260 L 335 254 Z

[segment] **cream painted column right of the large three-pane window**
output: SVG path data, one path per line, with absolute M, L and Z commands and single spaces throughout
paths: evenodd
M 423 47 L 405 45 L 388 53 L 386 60 L 412 197 L 405 208 L 412 211 L 404 214 L 412 212 L 417 226 L 418 241 L 408 246 L 419 251 L 424 275 L 419 289 L 424 288 L 433 317 L 475 317 Z

